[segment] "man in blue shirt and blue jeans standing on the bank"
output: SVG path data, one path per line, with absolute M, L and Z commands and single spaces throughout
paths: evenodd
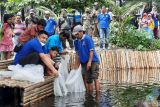
M 109 47 L 109 24 L 111 21 L 110 15 L 107 13 L 107 9 L 102 7 L 102 13 L 97 17 L 99 23 L 100 34 L 100 50 L 103 49 L 103 40 L 105 38 L 105 48 Z

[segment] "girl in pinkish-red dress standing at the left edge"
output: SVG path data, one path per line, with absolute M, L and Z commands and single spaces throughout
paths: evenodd
M 2 26 L 2 41 L 0 42 L 0 51 L 4 54 L 4 59 L 10 59 L 11 58 L 11 52 L 13 51 L 13 41 L 12 37 L 14 36 L 13 30 L 12 30 L 12 17 L 14 17 L 11 14 L 5 14 L 4 16 L 4 24 Z

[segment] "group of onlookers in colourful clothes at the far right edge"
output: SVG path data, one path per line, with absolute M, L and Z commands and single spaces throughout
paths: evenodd
M 160 15 L 158 14 L 157 8 L 153 7 L 150 12 L 143 12 L 142 18 L 139 20 L 137 16 L 134 16 L 131 20 L 136 29 L 146 32 L 146 37 L 149 39 L 159 39 L 159 20 Z

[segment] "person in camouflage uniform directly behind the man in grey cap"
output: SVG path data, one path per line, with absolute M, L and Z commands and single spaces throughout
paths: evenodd
M 91 10 L 89 8 L 85 9 L 85 13 L 82 15 L 82 25 L 83 30 L 86 34 L 92 36 L 93 35 L 93 27 L 92 27 L 92 16 L 91 16 Z

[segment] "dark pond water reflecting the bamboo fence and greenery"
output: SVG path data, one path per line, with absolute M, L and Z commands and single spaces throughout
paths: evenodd
M 30 107 L 160 107 L 159 69 L 101 71 L 100 81 L 100 93 L 52 96 Z

